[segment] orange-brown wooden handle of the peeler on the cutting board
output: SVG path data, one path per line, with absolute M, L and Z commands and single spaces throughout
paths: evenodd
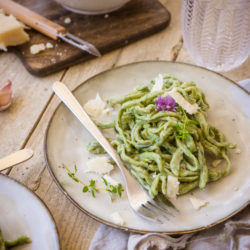
M 64 34 L 66 32 L 66 29 L 63 26 L 54 23 L 49 19 L 11 0 L 0 0 L 0 8 L 2 8 L 8 14 L 12 14 L 26 25 L 40 31 L 44 35 L 51 37 L 54 40 L 58 38 L 55 34 Z

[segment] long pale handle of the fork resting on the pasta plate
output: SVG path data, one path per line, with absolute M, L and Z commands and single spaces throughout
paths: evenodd
M 120 168 L 122 175 L 125 179 L 126 184 L 136 181 L 131 178 L 129 171 L 125 168 L 120 156 L 116 153 L 114 148 L 110 145 L 109 141 L 103 136 L 100 129 L 95 125 L 95 123 L 90 119 L 88 114 L 85 112 L 80 103 L 73 96 L 71 91 L 62 82 L 55 82 L 53 84 L 53 90 L 56 95 L 62 100 L 62 102 L 73 112 L 73 114 L 78 118 L 82 125 L 95 137 L 95 139 L 101 144 L 101 146 L 106 150 L 110 157 L 114 160 L 117 166 Z

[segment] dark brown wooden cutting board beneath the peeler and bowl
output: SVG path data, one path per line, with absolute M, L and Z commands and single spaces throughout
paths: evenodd
M 123 47 L 165 28 L 169 12 L 157 0 L 131 0 L 120 10 L 108 15 L 87 16 L 65 10 L 52 0 L 17 0 L 20 4 L 65 26 L 67 30 L 94 44 L 101 54 Z M 71 23 L 65 24 L 69 17 Z M 30 42 L 13 48 L 26 69 L 34 75 L 45 76 L 93 56 L 63 41 L 54 41 L 35 30 L 28 30 Z M 32 55 L 33 44 L 53 44 L 39 54 Z

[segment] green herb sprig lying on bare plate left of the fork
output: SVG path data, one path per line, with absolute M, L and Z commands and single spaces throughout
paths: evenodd
M 117 186 L 108 183 L 105 178 L 102 177 L 102 180 L 106 186 L 106 188 L 97 188 L 96 187 L 96 180 L 91 179 L 89 184 L 84 183 L 79 178 L 76 177 L 77 167 L 76 164 L 74 165 L 74 172 L 71 172 L 70 169 L 65 165 L 62 164 L 62 167 L 67 171 L 68 176 L 75 182 L 80 183 L 83 185 L 82 192 L 87 193 L 90 192 L 93 197 L 96 197 L 96 193 L 100 190 L 105 190 L 111 195 L 111 200 L 113 200 L 115 195 L 118 195 L 119 198 L 122 197 L 122 192 L 124 191 L 123 186 L 121 183 L 118 183 Z

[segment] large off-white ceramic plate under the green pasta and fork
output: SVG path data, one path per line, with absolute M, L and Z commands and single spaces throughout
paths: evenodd
M 205 191 L 197 189 L 191 194 L 180 196 L 174 201 L 180 214 L 170 218 L 169 222 L 162 225 L 148 223 L 134 214 L 126 196 L 113 203 L 105 193 L 92 198 L 89 194 L 82 193 L 81 185 L 73 182 L 65 170 L 58 167 L 64 163 L 73 171 L 76 163 L 78 176 L 85 182 L 90 178 L 84 174 L 84 168 L 90 157 L 86 144 L 92 137 L 63 104 L 59 105 L 48 126 L 45 138 L 47 165 L 64 194 L 82 211 L 105 224 L 141 233 L 173 234 L 202 230 L 229 218 L 249 202 L 249 95 L 217 73 L 172 62 L 141 62 L 118 67 L 87 80 L 74 94 L 82 105 L 95 98 L 97 92 L 104 100 L 120 97 L 137 85 L 147 84 L 159 73 L 171 73 L 183 81 L 194 81 L 203 89 L 211 106 L 208 112 L 209 122 L 220 128 L 227 139 L 236 142 L 241 150 L 240 154 L 233 151 L 230 154 L 232 171 L 229 176 L 208 184 Z M 122 181 L 119 170 L 115 170 L 112 176 Z M 208 201 L 208 205 L 196 211 L 189 200 L 192 195 Z M 113 222 L 112 213 L 116 211 L 126 221 L 125 226 L 120 227 Z

